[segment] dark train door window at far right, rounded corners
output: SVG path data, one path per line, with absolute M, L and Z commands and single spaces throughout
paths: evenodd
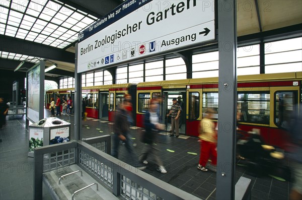
M 274 102 L 274 123 L 282 128 L 287 129 L 291 117 L 296 116 L 295 105 L 297 103 L 296 91 L 278 91 L 275 93 Z

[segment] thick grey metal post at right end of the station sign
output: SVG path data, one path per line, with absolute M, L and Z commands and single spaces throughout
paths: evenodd
M 237 112 L 236 1 L 218 0 L 218 142 L 216 199 L 234 199 Z

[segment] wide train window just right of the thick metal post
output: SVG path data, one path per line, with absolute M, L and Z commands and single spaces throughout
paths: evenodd
M 269 124 L 270 94 L 263 93 L 238 93 L 238 112 L 240 121 L 249 123 Z

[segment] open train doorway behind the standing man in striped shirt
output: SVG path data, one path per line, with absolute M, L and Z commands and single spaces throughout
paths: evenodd
M 163 92 L 163 116 L 166 116 L 167 113 L 171 110 L 173 105 L 172 99 L 180 99 L 180 105 L 182 107 L 181 116 L 179 119 L 179 133 L 186 134 L 186 92 L 185 91 L 164 91 Z M 171 130 L 171 116 L 166 118 L 167 130 Z

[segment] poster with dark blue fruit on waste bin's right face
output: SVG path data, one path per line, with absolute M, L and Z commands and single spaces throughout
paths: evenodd
M 69 127 L 60 127 L 50 130 L 49 145 L 70 141 Z

